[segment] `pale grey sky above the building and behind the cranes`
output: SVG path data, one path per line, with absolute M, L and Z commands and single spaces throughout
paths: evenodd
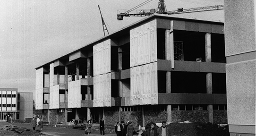
M 117 20 L 118 9 L 146 0 L 0 0 L 0 88 L 34 92 L 35 69 L 143 17 Z M 165 0 L 168 11 L 223 5 L 223 0 Z M 138 9 L 157 8 L 152 0 Z M 224 10 L 171 15 L 224 21 Z

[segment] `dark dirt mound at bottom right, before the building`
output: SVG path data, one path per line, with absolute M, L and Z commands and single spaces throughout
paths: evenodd
M 212 123 L 170 123 L 167 136 L 230 136 L 228 127 Z

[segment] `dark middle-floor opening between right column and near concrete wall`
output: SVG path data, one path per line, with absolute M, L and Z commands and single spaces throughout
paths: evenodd
M 213 73 L 213 93 L 227 93 L 226 88 L 226 74 L 225 73 Z

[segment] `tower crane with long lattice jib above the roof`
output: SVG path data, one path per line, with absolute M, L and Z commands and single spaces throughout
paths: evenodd
M 147 1 L 151 1 L 151 0 L 147 0 Z M 147 1 L 145 1 L 145 2 L 148 3 Z M 145 4 L 143 4 L 143 5 L 145 5 Z M 141 7 L 141 6 L 139 6 L 139 7 Z M 178 10 L 167 11 L 166 7 L 165 7 L 164 0 L 159 0 L 157 9 L 152 8 L 152 9 L 134 10 L 136 8 L 138 8 L 138 7 L 132 8 L 130 10 L 118 10 L 117 19 L 123 20 L 123 17 L 131 17 L 131 16 L 132 17 L 144 17 L 144 16 L 150 16 L 154 13 L 171 15 L 171 14 L 191 13 L 191 12 L 200 12 L 200 11 L 211 11 L 211 10 L 224 9 L 224 6 L 216 5 L 216 6 L 188 8 L 188 9 L 178 8 Z

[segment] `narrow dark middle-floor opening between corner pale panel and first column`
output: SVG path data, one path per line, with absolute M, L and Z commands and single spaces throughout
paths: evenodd
M 166 71 L 157 71 L 158 93 L 166 93 Z

